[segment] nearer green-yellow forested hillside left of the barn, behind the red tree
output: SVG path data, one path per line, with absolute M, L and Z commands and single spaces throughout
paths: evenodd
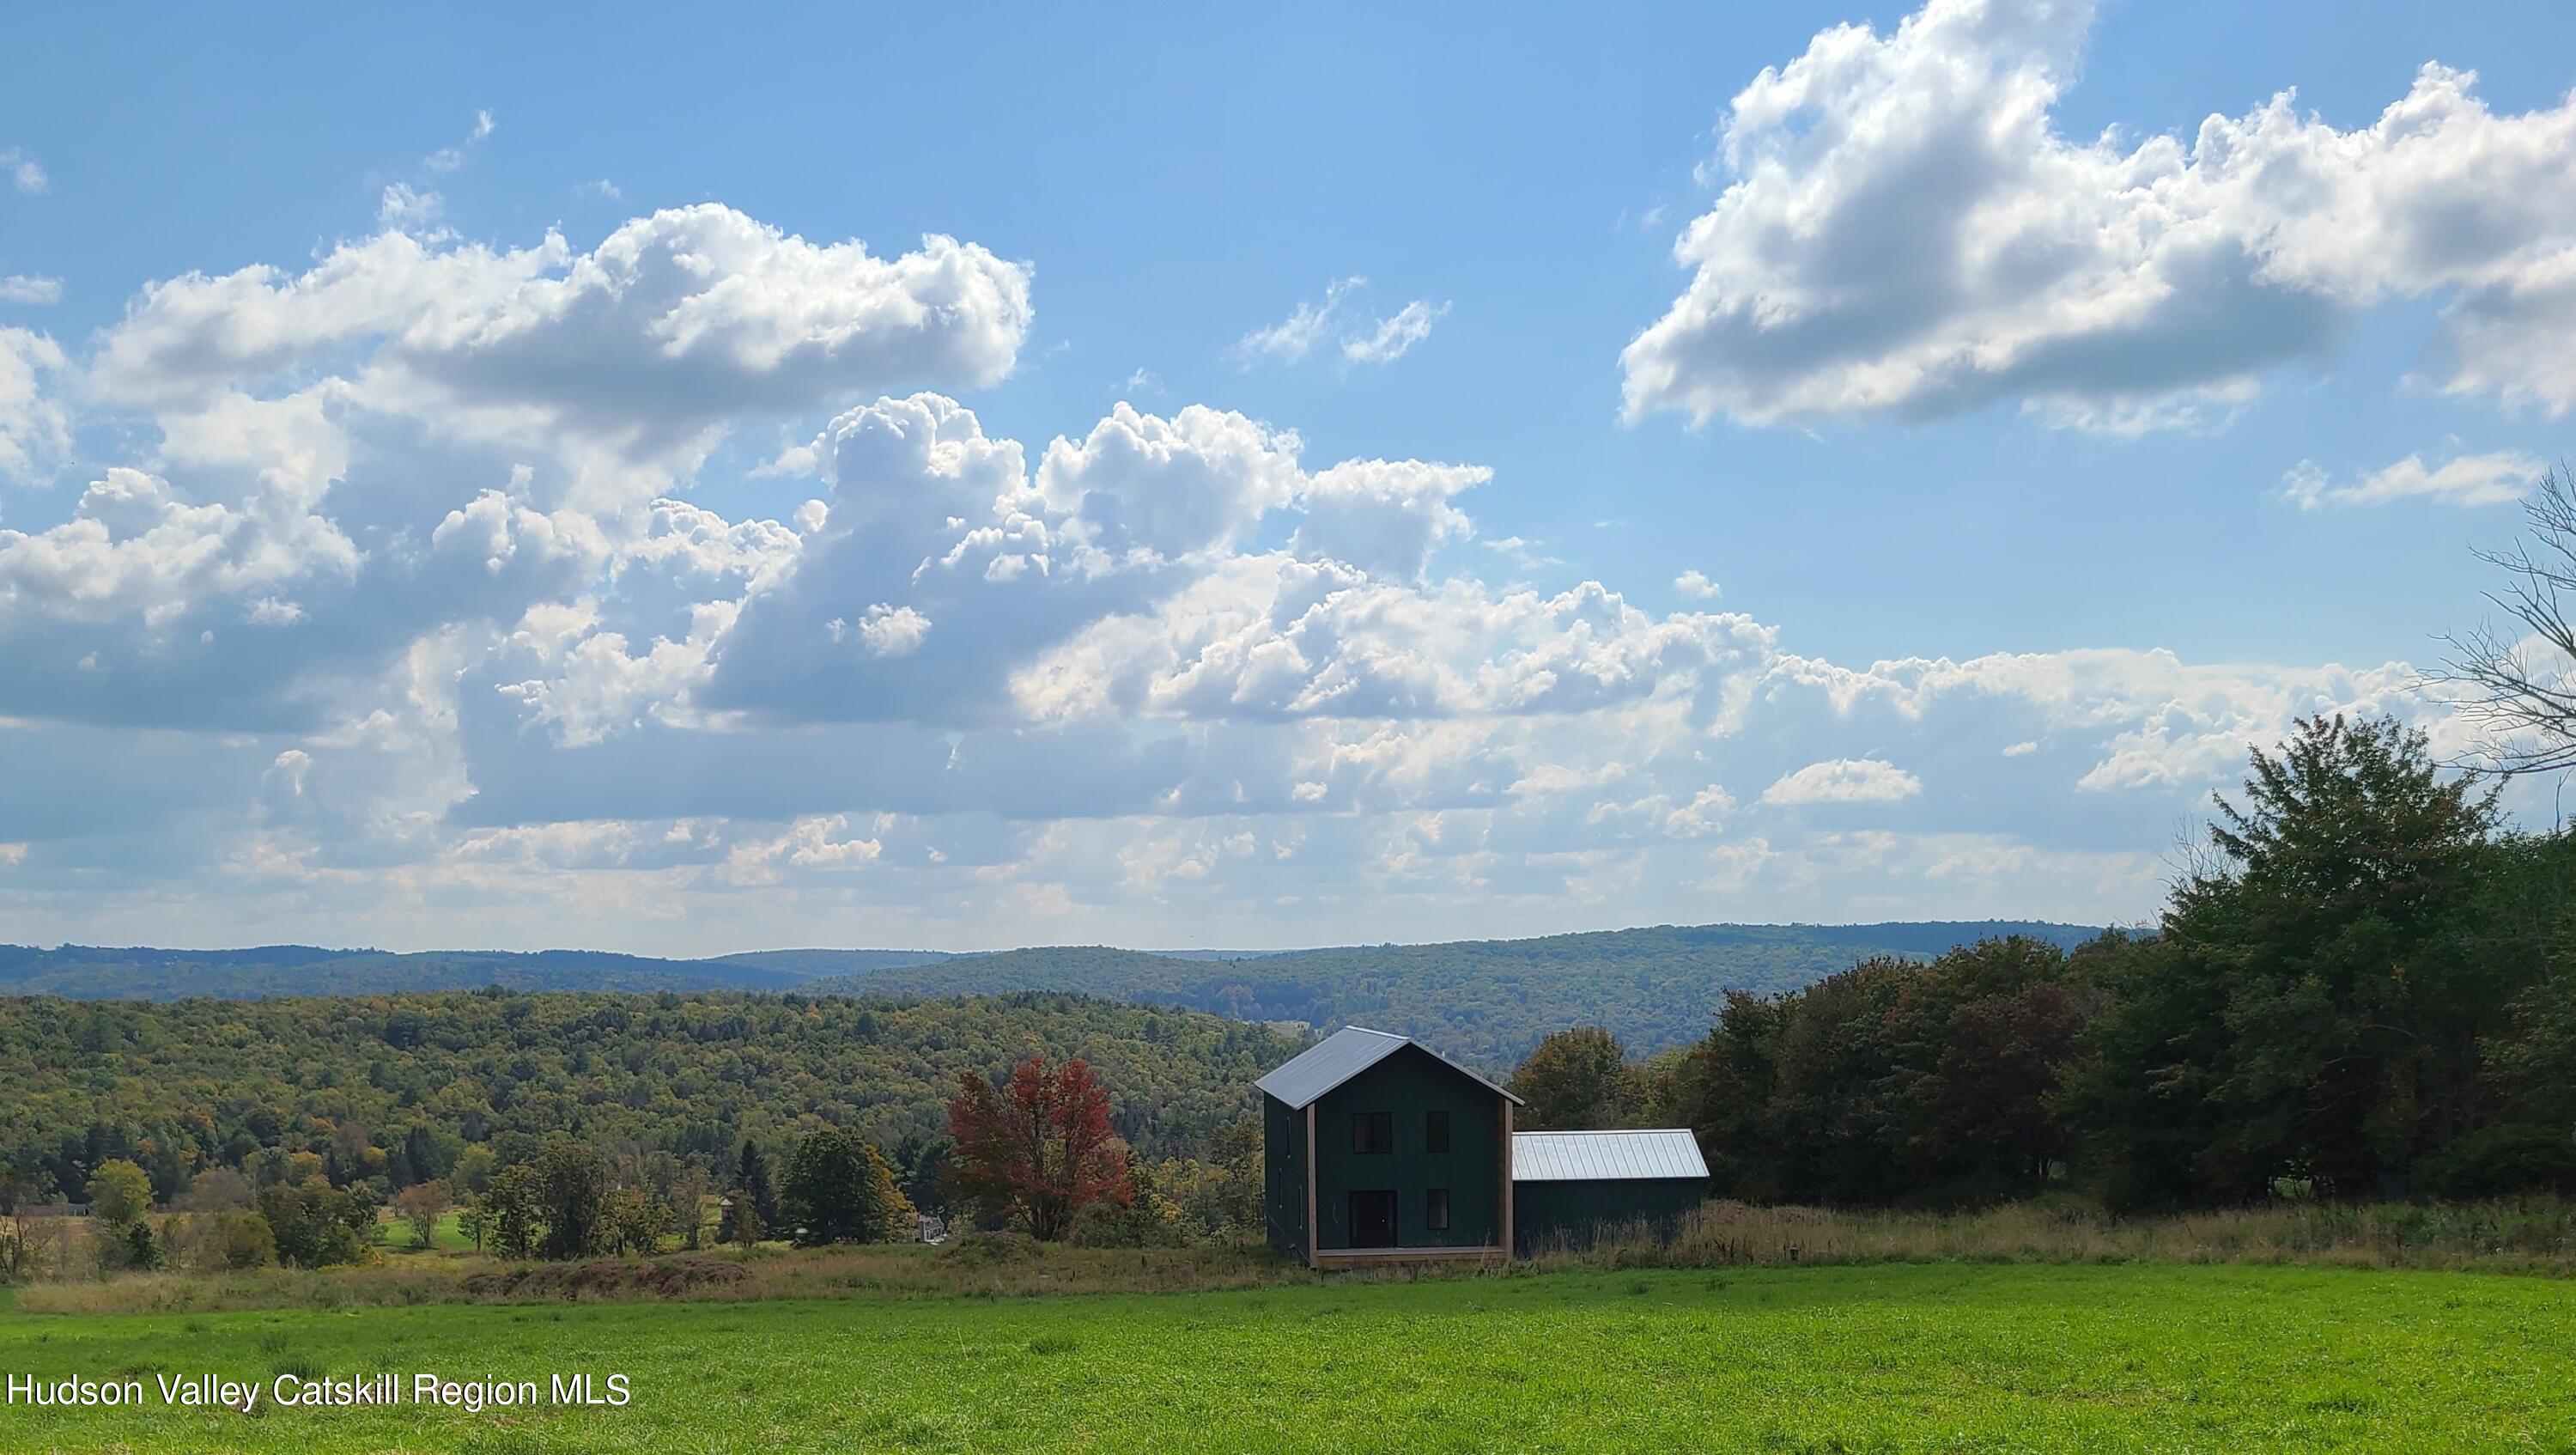
M 752 994 L 0 999 L 0 1182 L 77 1195 L 111 1159 L 167 1197 L 206 1167 L 319 1154 L 332 1182 L 443 1177 L 466 1146 L 546 1133 L 732 1167 L 744 1136 L 945 1133 L 958 1071 L 1082 1056 L 1115 1131 L 1195 1151 L 1298 1051 L 1270 1030 L 1069 994 L 951 1002 Z

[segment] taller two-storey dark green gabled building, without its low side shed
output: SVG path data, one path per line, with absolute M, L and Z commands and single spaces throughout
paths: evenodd
M 1504 1257 L 1520 1097 L 1383 1030 L 1260 1079 L 1270 1241 L 1309 1267 Z

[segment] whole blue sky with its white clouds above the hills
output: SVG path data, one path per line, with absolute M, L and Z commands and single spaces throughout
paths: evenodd
M 0 937 L 2136 919 L 2468 744 L 2568 28 L 39 15 Z

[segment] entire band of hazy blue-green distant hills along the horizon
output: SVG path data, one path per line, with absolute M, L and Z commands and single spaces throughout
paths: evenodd
M 2027 935 L 2074 948 L 2099 930 L 2043 919 L 1883 925 L 1654 925 L 1533 940 L 1329 950 L 747 950 L 701 961 L 611 950 L 160 950 L 0 945 L 0 994 L 268 999 L 505 986 L 515 991 L 801 991 L 966 997 L 1079 991 L 1309 1030 L 1376 1025 L 1481 1066 L 1548 1030 L 1607 1025 L 1633 1053 L 1705 1035 L 1726 991 L 1775 994 L 1870 955 L 1927 958 Z

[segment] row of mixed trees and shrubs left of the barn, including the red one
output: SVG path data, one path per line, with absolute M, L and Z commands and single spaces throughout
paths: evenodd
M 945 1115 L 943 1141 L 914 1141 L 896 1156 L 850 1128 L 811 1131 L 796 1138 L 775 1174 L 762 1146 L 744 1141 L 729 1187 L 714 1197 L 703 1172 L 667 1154 L 616 1159 L 556 1133 L 526 1161 L 466 1156 L 453 1179 L 404 1185 L 392 1200 L 394 1226 L 425 1249 L 453 1218 L 477 1252 L 505 1259 L 649 1257 L 672 1241 L 701 1249 L 711 1231 L 742 1246 L 768 1239 L 881 1244 L 914 1241 L 925 1231 L 907 1195 L 912 1187 L 971 1228 L 1015 1228 L 1038 1241 L 1141 1246 L 1242 1241 L 1260 1231 L 1255 1118 L 1229 1123 L 1208 1161 L 1139 1161 L 1113 1131 L 1115 1107 L 1092 1066 L 1046 1056 L 1020 1061 L 999 1082 L 961 1071 Z M 907 1151 L 909 1164 L 896 1161 Z M 376 1257 L 376 1182 L 335 1185 L 314 1154 L 263 1172 L 268 1177 L 252 1182 L 211 1167 L 167 1208 L 155 1208 L 152 1177 L 129 1159 L 108 1159 L 85 1185 L 95 1236 L 77 1262 L 103 1272 L 167 1262 L 227 1272 Z M 59 1234 L 54 1223 L 49 1231 Z M 39 1267 L 31 1221 L 0 1226 L 0 1277 L 75 1272 L 70 1252 L 64 1244 L 54 1267 Z

